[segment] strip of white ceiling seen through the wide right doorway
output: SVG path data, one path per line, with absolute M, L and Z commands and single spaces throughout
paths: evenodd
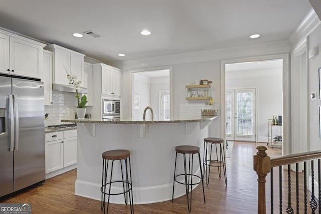
M 242 62 L 225 65 L 226 72 L 257 71 L 257 70 L 280 70 L 282 71 L 283 60 L 267 60 L 258 62 Z

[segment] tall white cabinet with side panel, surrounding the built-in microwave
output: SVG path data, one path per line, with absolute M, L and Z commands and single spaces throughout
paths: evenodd
M 121 70 L 106 64 L 93 64 L 93 106 L 91 117 L 102 118 L 102 100 L 121 99 Z

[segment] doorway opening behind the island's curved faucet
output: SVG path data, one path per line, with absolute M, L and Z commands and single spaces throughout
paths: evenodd
M 170 120 L 170 100 L 170 69 L 133 73 L 133 120 L 142 120 L 147 106 L 152 108 L 154 120 Z M 146 120 L 151 120 L 149 111 Z

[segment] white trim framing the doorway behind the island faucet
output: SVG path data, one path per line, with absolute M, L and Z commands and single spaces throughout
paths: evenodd
M 171 118 L 173 117 L 173 66 L 170 65 L 165 65 L 165 66 L 155 66 L 155 67 L 142 67 L 142 68 L 135 68 L 135 69 L 129 69 L 128 70 L 128 90 L 129 90 L 129 96 L 128 96 L 128 101 L 129 101 L 129 112 L 128 112 L 128 117 L 132 119 L 132 109 L 133 109 L 133 102 L 132 102 L 132 97 L 134 95 L 134 78 L 133 78 L 133 73 L 137 72 L 144 72 L 144 71 L 156 71 L 156 70 L 169 70 L 170 71 L 170 116 Z

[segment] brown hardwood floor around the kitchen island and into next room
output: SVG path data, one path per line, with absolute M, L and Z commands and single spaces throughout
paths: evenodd
M 227 186 L 224 177 L 219 179 L 217 170 L 213 168 L 210 183 L 205 187 L 206 204 L 199 185 L 193 191 L 191 213 L 257 213 L 257 175 L 253 171 L 257 145 L 234 142 L 232 157 L 227 158 Z M 281 154 L 280 149 L 274 148 L 267 152 L 272 157 Z M 32 203 L 33 213 L 102 213 L 100 201 L 74 195 L 75 180 L 76 170 L 73 170 L 0 202 Z M 135 213 L 188 213 L 185 196 L 173 203 L 135 205 L 134 209 Z M 130 213 L 130 207 L 110 204 L 109 213 Z

